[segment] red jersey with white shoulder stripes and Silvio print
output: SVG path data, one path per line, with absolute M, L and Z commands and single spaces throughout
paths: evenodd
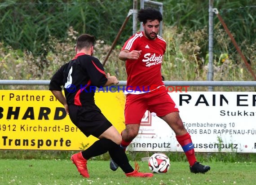
M 155 40 L 150 40 L 141 31 L 125 42 L 122 50 L 124 49 L 142 51 L 139 59 L 126 60 L 127 89 L 135 90 L 137 88 L 137 90 L 145 91 L 164 85 L 161 63 L 163 62 L 166 42 L 162 37 L 157 35 Z

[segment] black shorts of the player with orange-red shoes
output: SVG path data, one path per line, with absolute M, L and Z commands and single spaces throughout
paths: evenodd
M 68 108 L 71 121 L 86 137 L 92 135 L 98 138 L 112 126 L 96 105 L 70 105 Z

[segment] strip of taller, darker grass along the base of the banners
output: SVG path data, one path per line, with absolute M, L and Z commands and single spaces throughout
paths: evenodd
M 86 148 L 84 148 L 85 150 Z M 141 161 L 142 158 L 150 157 L 154 152 L 136 152 L 136 151 L 126 151 L 129 160 Z M 0 150 L 0 159 L 66 159 L 69 160 L 72 154 L 77 153 L 77 151 L 43 151 L 43 150 Z M 175 162 L 187 162 L 186 156 L 183 152 L 163 152 L 166 154 L 171 161 Z M 246 154 L 246 153 L 236 153 L 227 152 L 222 153 L 196 153 L 198 161 L 205 162 L 216 162 L 221 161 L 224 163 L 231 162 L 256 162 L 256 154 Z M 96 160 L 109 160 L 110 156 L 108 153 L 102 154 L 100 156 L 93 157 Z

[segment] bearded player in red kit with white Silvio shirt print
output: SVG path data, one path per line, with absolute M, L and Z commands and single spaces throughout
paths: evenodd
M 168 123 L 175 132 L 190 164 L 190 172 L 205 173 L 210 167 L 196 160 L 190 134 L 186 131 L 179 110 L 162 81 L 161 63 L 166 42 L 157 35 L 163 20 L 162 14 L 156 9 L 141 9 L 138 20 L 143 23 L 144 31 L 130 37 L 119 53 L 119 59 L 126 61 L 127 89 L 133 90 L 127 90 L 126 93 L 125 129 L 121 132 L 120 146 L 125 150 L 137 136 L 141 119 L 146 110 L 149 110 Z M 115 171 L 117 167 L 111 159 L 110 168 Z

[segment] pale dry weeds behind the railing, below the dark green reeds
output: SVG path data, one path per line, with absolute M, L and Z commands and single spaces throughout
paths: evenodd
M 72 27 L 68 30 L 68 38 L 61 42 L 51 37 L 49 43 L 45 44 L 46 57 L 34 56 L 31 52 L 14 50 L 11 47 L 4 48 L 0 44 L 0 74 L 1 79 L 42 79 L 49 80 L 54 72 L 68 62 L 75 55 L 75 39 L 78 32 Z M 164 27 L 163 37 L 167 41 L 167 50 L 164 56 L 162 74 L 165 80 L 207 80 L 208 55 L 202 51 L 207 47 L 207 28 L 197 31 L 183 29 L 178 31 L 177 27 Z M 215 33 L 217 42 L 214 47 L 218 52 L 214 54 L 214 80 L 219 81 L 253 81 L 243 60 L 236 51 L 231 51 L 230 39 L 225 31 L 217 29 Z M 243 42 L 243 51 L 256 71 L 255 44 L 249 45 Z M 97 40 L 94 55 L 104 61 L 110 50 L 110 45 L 103 40 Z M 126 80 L 125 62 L 118 59 L 121 46 L 117 46 L 108 61 L 105 69 L 111 75 L 116 75 L 119 80 Z M 2 89 L 47 89 L 48 87 L 9 87 Z M 216 91 L 255 91 L 249 87 L 216 87 Z M 207 87 L 190 87 L 190 91 L 207 91 Z

